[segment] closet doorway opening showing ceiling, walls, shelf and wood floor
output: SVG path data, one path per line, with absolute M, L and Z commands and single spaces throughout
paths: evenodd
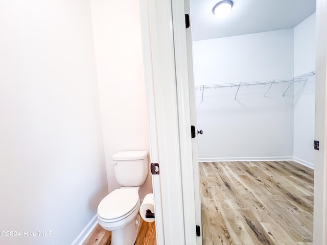
M 233 2 L 190 1 L 203 244 L 312 242 L 315 3 Z

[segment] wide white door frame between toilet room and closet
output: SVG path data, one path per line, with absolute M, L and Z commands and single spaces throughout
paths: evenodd
M 195 245 L 184 2 L 140 0 L 140 12 L 157 244 Z

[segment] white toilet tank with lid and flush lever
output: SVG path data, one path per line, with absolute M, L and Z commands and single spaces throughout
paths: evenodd
M 112 156 L 114 175 L 121 186 L 141 186 L 148 176 L 148 151 L 125 151 Z

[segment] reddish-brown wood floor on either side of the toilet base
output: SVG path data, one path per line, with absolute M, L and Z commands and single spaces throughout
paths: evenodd
M 84 241 L 83 245 L 110 245 L 111 232 L 104 230 L 99 224 Z M 155 224 L 141 218 L 138 235 L 134 245 L 156 245 Z

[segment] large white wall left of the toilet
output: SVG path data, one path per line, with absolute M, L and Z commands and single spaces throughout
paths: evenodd
M 0 30 L 0 243 L 69 244 L 107 193 L 89 1 L 1 1 Z

